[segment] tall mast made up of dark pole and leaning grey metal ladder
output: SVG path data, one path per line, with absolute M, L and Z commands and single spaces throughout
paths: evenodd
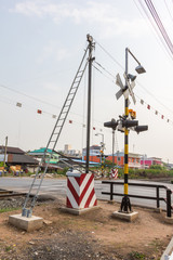
M 86 143 L 88 143 L 88 145 L 86 145 L 86 147 L 88 147 L 88 150 L 86 150 L 88 151 L 88 155 L 86 155 L 88 160 L 86 160 L 86 172 L 89 172 L 90 114 L 91 114 L 91 112 L 90 112 L 90 107 L 91 107 L 91 66 L 92 66 L 92 61 L 93 61 L 92 51 L 93 51 L 94 44 L 93 44 L 92 36 L 88 35 L 86 39 L 88 39 L 89 44 L 88 44 L 88 47 L 84 51 L 84 55 L 81 60 L 81 63 L 79 65 L 79 68 L 78 68 L 77 74 L 75 76 L 75 79 L 71 83 L 71 87 L 70 87 L 69 92 L 67 94 L 65 103 L 63 105 L 63 108 L 62 108 L 62 110 L 59 113 L 59 116 L 56 120 L 56 123 L 53 128 L 52 134 L 51 134 L 51 136 L 48 141 L 46 147 L 44 150 L 44 153 L 43 153 L 43 156 L 42 156 L 42 159 L 41 159 L 41 162 L 40 162 L 40 166 L 38 167 L 38 170 L 36 172 L 34 181 L 30 185 L 29 192 L 26 196 L 26 199 L 25 199 L 25 203 L 24 203 L 24 206 L 23 206 L 23 211 L 22 211 L 23 217 L 30 218 L 31 214 L 32 214 L 32 209 L 34 209 L 35 204 L 37 202 L 42 181 L 44 179 L 48 167 L 50 165 L 51 157 L 52 157 L 53 153 L 55 152 L 57 141 L 59 139 L 59 135 L 61 135 L 61 132 L 63 130 L 64 123 L 67 119 L 68 113 L 70 110 L 70 107 L 72 105 L 72 102 L 75 100 L 75 96 L 77 94 L 79 84 L 82 80 L 82 77 L 83 77 L 83 74 L 85 72 L 85 68 L 86 68 L 88 64 L 89 64 L 89 98 L 88 98 L 88 138 L 86 138 L 88 139 L 88 141 L 86 141 Z M 89 52 L 89 57 L 85 58 L 88 52 Z M 49 153 L 49 158 L 46 157 L 48 153 Z M 43 164 L 45 164 L 44 172 L 42 173 L 41 178 L 38 179 L 41 166 L 43 166 Z M 34 188 L 35 188 L 35 191 L 34 191 Z M 30 198 L 31 198 L 31 203 L 29 203 Z

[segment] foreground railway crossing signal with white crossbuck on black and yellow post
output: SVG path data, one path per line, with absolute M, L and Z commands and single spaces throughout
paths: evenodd
M 121 202 L 120 212 L 122 213 L 129 213 L 132 211 L 130 198 L 128 196 L 129 192 L 129 184 L 128 184 L 128 178 L 129 178 L 129 129 L 135 130 L 137 133 L 142 131 L 148 130 L 148 126 L 138 126 L 138 121 L 134 120 L 136 118 L 135 113 L 133 110 L 129 110 L 129 95 L 131 95 L 133 103 L 136 103 L 133 89 L 135 87 L 135 78 L 136 76 L 133 76 L 129 74 L 128 69 L 128 58 L 129 54 L 137 62 L 138 66 L 135 68 L 135 70 L 138 74 L 146 73 L 144 67 L 141 65 L 141 63 L 137 61 L 137 58 L 133 55 L 133 53 L 127 48 L 125 49 L 125 73 L 124 73 L 124 79 L 125 84 L 122 83 L 122 80 L 120 78 L 120 75 L 118 74 L 116 77 L 116 83 L 120 87 L 120 90 L 116 93 L 117 100 L 119 100 L 122 95 L 124 96 L 124 116 L 120 117 L 120 123 L 118 127 L 119 131 L 124 132 L 124 196 Z M 130 118 L 131 117 L 131 118 Z

